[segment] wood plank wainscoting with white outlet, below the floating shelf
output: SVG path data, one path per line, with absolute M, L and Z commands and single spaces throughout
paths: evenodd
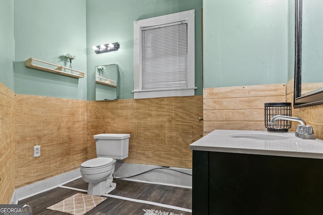
M 86 133 L 86 101 L 16 95 L 16 188 L 79 168 Z

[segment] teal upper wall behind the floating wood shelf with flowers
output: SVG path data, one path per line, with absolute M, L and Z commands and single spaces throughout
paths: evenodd
M 86 100 L 85 78 L 75 79 L 25 67 L 30 57 L 86 73 L 86 1 L 15 0 L 15 93 Z M 62 57 L 63 56 L 63 57 Z

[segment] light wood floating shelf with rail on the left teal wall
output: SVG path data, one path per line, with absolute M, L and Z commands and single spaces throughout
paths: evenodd
M 34 61 L 40 62 L 40 64 L 42 63 L 44 65 L 35 64 Z M 56 68 L 49 68 L 48 65 L 55 66 Z M 73 78 L 78 78 L 78 79 L 79 78 L 84 78 L 83 71 L 79 71 L 79 70 L 76 70 L 76 69 L 73 69 L 73 68 L 68 68 L 68 67 L 61 66 L 61 65 L 56 65 L 56 64 L 53 64 L 53 63 L 48 63 L 48 62 L 45 62 L 45 61 L 42 61 L 42 60 L 37 60 L 37 59 L 32 58 L 32 57 L 30 57 L 28 60 L 25 61 L 25 66 L 40 69 L 40 70 L 43 70 L 43 71 L 49 71 L 50 73 L 56 73 L 56 74 L 69 76 L 69 77 L 73 77 Z M 70 73 L 68 73 L 68 71 L 70 71 Z

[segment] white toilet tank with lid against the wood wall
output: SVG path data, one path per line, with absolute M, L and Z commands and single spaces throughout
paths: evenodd
M 116 160 L 128 158 L 130 134 L 100 133 L 94 135 L 96 139 L 96 156 Z

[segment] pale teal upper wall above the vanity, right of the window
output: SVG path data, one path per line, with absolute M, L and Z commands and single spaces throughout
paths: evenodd
M 203 87 L 287 82 L 288 2 L 203 0 Z

